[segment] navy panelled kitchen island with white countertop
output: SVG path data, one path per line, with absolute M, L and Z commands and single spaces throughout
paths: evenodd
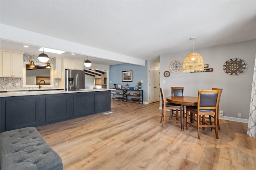
M 112 89 L 0 93 L 1 133 L 110 111 Z

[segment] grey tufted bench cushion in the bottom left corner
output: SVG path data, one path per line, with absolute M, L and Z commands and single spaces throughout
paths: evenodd
M 1 170 L 62 170 L 60 156 L 34 127 L 1 133 Z

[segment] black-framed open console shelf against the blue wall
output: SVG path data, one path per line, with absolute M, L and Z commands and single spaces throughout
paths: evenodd
M 143 90 L 115 89 L 111 91 L 111 99 L 143 104 Z

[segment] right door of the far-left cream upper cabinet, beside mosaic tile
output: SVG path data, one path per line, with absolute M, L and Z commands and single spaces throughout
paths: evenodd
M 14 77 L 22 77 L 23 76 L 23 54 L 20 53 L 13 53 L 13 60 L 12 60 L 12 75 Z

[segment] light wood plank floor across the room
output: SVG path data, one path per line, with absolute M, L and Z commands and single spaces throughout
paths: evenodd
M 36 128 L 61 156 L 65 170 L 255 170 L 256 138 L 247 123 L 220 120 L 219 138 L 210 128 L 181 131 L 161 127 L 159 102 L 111 100 L 99 113 Z

